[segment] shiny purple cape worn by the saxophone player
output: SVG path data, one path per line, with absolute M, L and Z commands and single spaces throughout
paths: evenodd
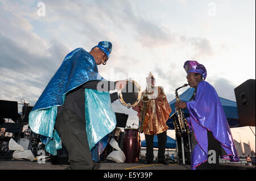
M 195 100 L 187 102 L 189 111 L 189 127 L 193 129 L 197 145 L 191 154 L 191 169 L 195 169 L 208 159 L 207 130 L 221 144 L 226 155 L 221 158 L 238 162 L 239 157 L 234 145 L 232 133 L 226 120 L 217 92 L 206 81 L 201 81 L 197 87 Z

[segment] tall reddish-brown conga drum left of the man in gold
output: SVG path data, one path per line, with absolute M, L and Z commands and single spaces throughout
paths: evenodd
M 123 137 L 123 153 L 125 153 L 125 162 L 133 163 L 138 157 L 138 151 L 141 150 L 139 142 L 139 132 L 135 128 L 125 129 Z

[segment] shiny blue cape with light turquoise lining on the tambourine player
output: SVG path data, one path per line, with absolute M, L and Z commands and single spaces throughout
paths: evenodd
M 77 48 L 64 58 L 29 115 L 30 128 L 42 135 L 41 140 L 49 153 L 56 155 L 56 150 L 62 148 L 60 136 L 54 127 L 57 106 L 63 105 L 67 92 L 85 82 L 103 79 L 98 74 L 93 56 L 84 49 Z M 93 148 L 98 148 L 97 144 L 106 145 L 107 139 L 104 137 L 113 131 L 116 124 L 109 92 L 85 89 L 85 117 L 90 150 L 95 151 Z M 102 140 L 104 143 L 100 142 Z

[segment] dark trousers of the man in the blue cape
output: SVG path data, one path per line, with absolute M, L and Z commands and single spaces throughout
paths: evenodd
M 66 109 L 56 117 L 55 128 L 68 151 L 68 169 L 93 169 L 85 121 L 75 112 Z

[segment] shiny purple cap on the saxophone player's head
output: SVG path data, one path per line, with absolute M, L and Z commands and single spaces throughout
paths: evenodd
M 207 77 L 207 70 L 205 69 L 204 65 L 199 64 L 197 61 L 188 60 L 185 62 L 183 68 L 187 73 L 192 72 L 201 74 L 204 80 Z

